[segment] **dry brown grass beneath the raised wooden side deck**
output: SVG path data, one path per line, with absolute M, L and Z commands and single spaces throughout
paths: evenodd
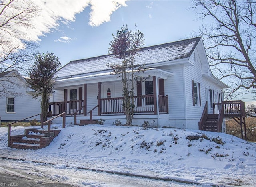
M 246 135 L 247 141 L 256 142 L 256 118 L 247 117 L 246 123 Z M 244 126 L 243 126 L 244 131 Z M 241 138 L 241 127 L 235 120 L 226 121 L 226 133 Z

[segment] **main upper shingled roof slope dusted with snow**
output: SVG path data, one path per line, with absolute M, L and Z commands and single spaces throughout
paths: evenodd
M 201 37 L 144 47 L 140 50 L 140 56 L 136 57 L 137 64 L 155 64 L 160 62 L 173 61 L 190 57 Z M 106 71 L 110 68 L 106 63 L 120 63 L 120 59 L 114 55 L 103 55 L 88 59 L 70 61 L 63 66 L 57 73 L 58 77 L 68 77 L 86 73 Z

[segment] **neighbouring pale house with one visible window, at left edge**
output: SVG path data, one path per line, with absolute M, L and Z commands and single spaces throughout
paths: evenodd
M 1 77 L 1 110 L 3 121 L 18 121 L 41 113 L 39 99 L 32 97 L 33 90 L 26 85 L 26 79 L 16 70 L 6 71 Z M 28 120 L 40 120 L 40 115 Z

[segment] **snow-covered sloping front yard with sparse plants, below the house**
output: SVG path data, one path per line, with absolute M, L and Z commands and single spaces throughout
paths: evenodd
M 52 125 L 52 128 L 61 128 L 61 124 Z M 24 134 L 24 129 L 12 128 L 12 135 Z M 52 169 L 48 167 L 52 175 L 58 175 L 58 169 L 60 172 L 68 167 L 81 167 L 199 186 L 256 186 L 256 144 L 228 134 L 174 128 L 67 124 L 48 147 L 18 150 L 7 148 L 7 130 L 0 128 L 1 157 L 55 163 Z M 64 182 L 72 183 L 70 177 L 62 177 Z M 76 181 L 76 185 L 86 186 L 88 183 Z

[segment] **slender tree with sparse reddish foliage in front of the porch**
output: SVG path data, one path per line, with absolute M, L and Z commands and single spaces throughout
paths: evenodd
M 144 44 L 144 34 L 137 30 L 128 30 L 128 26 L 123 25 L 121 30 L 116 32 L 116 36 L 110 42 L 109 52 L 113 53 L 114 58 L 121 60 L 120 63 L 107 63 L 114 75 L 122 78 L 122 95 L 124 113 L 126 114 L 126 125 L 132 125 L 134 115 L 134 80 L 143 80 L 144 77 L 136 75 L 144 72 L 144 65 L 135 63 L 136 57 L 140 55 L 140 49 Z

